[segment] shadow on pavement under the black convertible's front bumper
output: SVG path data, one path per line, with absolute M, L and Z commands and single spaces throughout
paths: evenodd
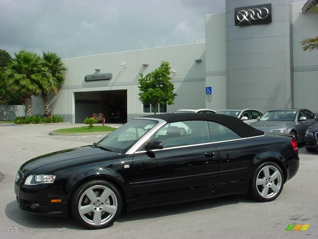
M 17 206 L 17 201 L 8 203 L 4 211 L 11 221 L 26 228 L 70 228 L 85 230 L 85 228 L 77 225 L 72 218 L 50 217 L 23 212 Z

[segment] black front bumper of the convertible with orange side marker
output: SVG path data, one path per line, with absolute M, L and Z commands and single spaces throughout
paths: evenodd
M 14 183 L 18 206 L 22 211 L 51 216 L 67 217 L 67 197 L 59 186 L 52 184 L 24 185 L 25 178 L 21 171 L 20 178 Z M 52 199 L 61 202 L 52 203 Z

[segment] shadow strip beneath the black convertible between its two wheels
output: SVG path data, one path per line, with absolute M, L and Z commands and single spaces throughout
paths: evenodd
M 228 195 L 217 198 L 196 200 L 178 204 L 170 204 L 156 207 L 147 207 L 137 209 L 131 212 L 123 213 L 116 220 L 117 222 L 143 220 L 157 217 L 165 217 L 176 214 L 184 214 L 205 209 L 211 209 L 220 206 L 232 205 L 236 203 L 258 203 L 250 199 L 247 195 Z

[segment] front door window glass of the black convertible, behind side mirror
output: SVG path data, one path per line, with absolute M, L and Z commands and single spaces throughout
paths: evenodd
M 200 120 L 168 123 L 151 138 L 161 141 L 164 148 L 210 141 L 207 121 Z

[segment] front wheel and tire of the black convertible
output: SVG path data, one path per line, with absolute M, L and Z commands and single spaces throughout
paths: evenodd
M 89 229 L 101 229 L 112 225 L 121 209 L 122 198 L 118 188 L 102 179 L 80 185 L 71 199 L 73 218 Z

